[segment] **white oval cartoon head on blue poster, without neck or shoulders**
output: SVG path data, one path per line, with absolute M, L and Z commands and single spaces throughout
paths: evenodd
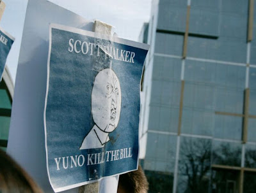
M 121 111 L 121 88 L 111 69 L 103 69 L 95 77 L 92 89 L 92 117 L 95 124 L 105 132 L 117 127 Z

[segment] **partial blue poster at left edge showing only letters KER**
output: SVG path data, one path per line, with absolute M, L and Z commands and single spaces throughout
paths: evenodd
M 14 38 L 0 27 L 0 80 L 2 80 L 6 59 L 11 50 L 13 41 Z

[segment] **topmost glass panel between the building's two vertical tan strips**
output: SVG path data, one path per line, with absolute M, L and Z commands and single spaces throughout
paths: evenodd
M 209 2 L 210 1 L 205 1 L 204 4 L 210 4 Z M 196 28 L 195 31 L 198 32 L 204 31 L 204 33 L 209 34 L 212 32 L 218 33 L 219 37 L 218 39 L 206 39 L 189 36 L 188 56 L 245 63 L 245 39 L 247 31 L 244 29 L 246 29 L 247 26 L 248 1 L 236 1 L 236 3 L 233 3 L 234 1 L 225 0 L 220 1 L 220 6 L 217 4 L 218 1 L 212 2 L 216 3 L 217 10 L 214 10 L 214 7 L 207 10 L 207 6 L 205 8 L 201 0 L 195 4 L 201 4 L 204 7 L 193 8 L 194 1 L 191 2 L 191 22 L 189 22 L 189 31 Z M 220 22 L 218 22 L 217 16 L 220 15 L 218 14 L 218 8 L 221 9 Z M 198 22 L 198 24 L 196 24 L 196 22 Z M 208 27 L 207 25 L 211 26 Z M 204 26 L 207 26 L 207 29 L 204 29 Z

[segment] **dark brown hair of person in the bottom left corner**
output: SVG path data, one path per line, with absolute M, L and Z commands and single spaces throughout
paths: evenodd
M 0 192 L 42 193 L 33 179 L 12 157 L 0 149 Z

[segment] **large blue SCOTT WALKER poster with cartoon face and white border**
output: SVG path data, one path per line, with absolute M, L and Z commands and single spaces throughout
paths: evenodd
M 55 192 L 138 168 L 148 45 L 51 24 L 45 148 Z

